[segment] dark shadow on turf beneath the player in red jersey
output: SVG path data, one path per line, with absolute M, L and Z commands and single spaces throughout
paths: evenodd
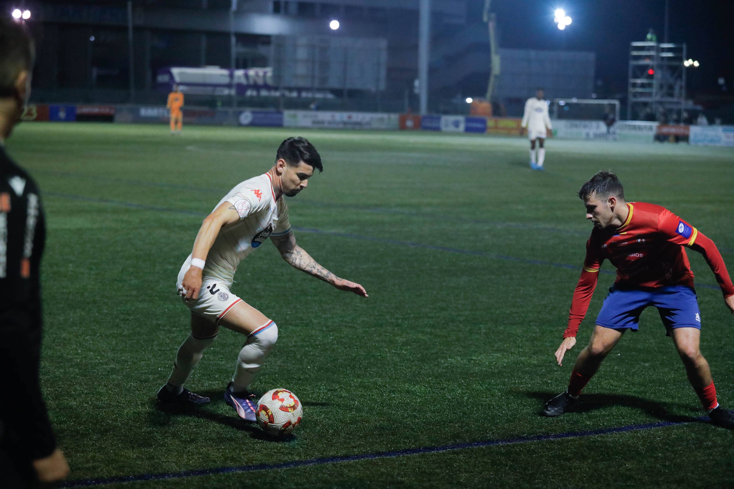
M 553 397 L 558 395 L 558 392 L 528 392 L 528 397 L 537 399 L 545 403 Z M 700 417 L 686 416 L 683 414 L 673 414 L 669 411 L 672 408 L 687 408 L 690 409 L 690 405 L 683 405 L 673 402 L 659 402 L 650 399 L 642 399 L 642 397 L 635 397 L 628 394 L 583 394 L 580 398 L 581 402 L 573 408 L 570 413 L 586 413 L 589 411 L 597 411 L 597 409 L 607 408 L 609 406 L 623 406 L 625 408 L 634 408 L 644 411 L 661 421 L 666 422 L 700 422 Z M 539 406 L 542 408 L 542 405 Z M 542 413 L 538 413 L 542 416 Z

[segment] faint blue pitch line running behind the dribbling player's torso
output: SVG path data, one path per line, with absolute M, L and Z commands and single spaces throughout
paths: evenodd
M 142 205 L 142 204 L 135 204 L 134 202 L 122 202 L 119 200 L 111 200 L 111 199 L 97 199 L 96 197 L 87 197 L 87 196 L 74 195 L 74 194 L 60 194 L 59 192 L 46 192 L 45 195 L 52 196 L 52 197 L 60 197 L 62 199 L 81 200 L 83 202 L 95 202 L 97 204 L 120 205 L 122 207 L 130 207 L 132 209 L 156 210 L 158 212 L 185 214 L 186 216 L 197 216 L 197 217 L 208 216 L 207 213 L 200 213 L 194 210 L 171 209 L 170 207 L 159 207 L 156 205 Z M 412 248 L 429 249 L 433 251 L 446 251 L 448 253 L 468 254 L 468 255 L 475 256 L 475 257 L 487 257 L 493 260 L 505 260 L 505 261 L 511 261 L 511 262 L 527 263 L 528 265 L 547 265 L 547 266 L 557 267 L 557 268 L 566 268 L 568 270 L 579 270 L 581 268 L 578 265 L 567 265 L 566 263 L 555 263 L 555 262 L 546 262 L 545 260 L 530 260 L 528 258 L 508 257 L 503 254 L 487 253 L 486 251 L 473 251 L 473 250 L 468 250 L 468 249 L 451 248 L 449 246 L 436 246 L 436 245 L 429 245 L 426 243 L 415 243 L 413 241 L 401 241 L 401 240 L 393 240 L 389 238 L 375 238 L 374 236 L 355 235 L 350 232 L 324 231 L 322 229 L 314 229 L 314 228 L 308 228 L 308 227 L 293 227 L 293 229 L 294 231 L 298 231 L 298 232 L 312 232 L 314 234 L 336 236 L 338 238 L 352 238 L 355 240 L 374 241 L 375 243 L 387 243 L 387 244 L 394 244 L 394 245 L 401 245 L 401 246 L 410 246 Z M 600 271 L 600 273 L 606 273 L 607 275 L 616 274 L 616 272 L 613 272 L 611 270 L 602 270 Z M 705 289 L 713 289 L 713 290 L 721 290 L 720 287 L 717 285 L 697 284 L 696 287 L 705 288 Z

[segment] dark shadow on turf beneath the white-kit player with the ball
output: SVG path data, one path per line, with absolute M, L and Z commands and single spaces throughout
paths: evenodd
M 275 443 L 288 443 L 296 439 L 295 435 L 272 436 L 264 432 L 256 423 L 245 422 L 234 414 L 222 414 L 211 410 L 212 405 L 224 403 L 224 391 L 197 391 L 200 396 L 211 399 L 211 402 L 200 405 L 195 408 L 181 408 L 175 405 L 166 405 L 153 399 L 153 410 L 150 411 L 150 421 L 157 426 L 164 426 L 170 423 L 175 416 L 192 416 L 194 418 L 207 419 L 235 430 L 247 432 L 250 438 L 256 440 L 272 441 Z

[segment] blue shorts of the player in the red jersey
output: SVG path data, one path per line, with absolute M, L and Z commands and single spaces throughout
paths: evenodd
M 609 289 L 597 325 L 637 331 L 640 315 L 647 306 L 658 308 L 667 335 L 675 328 L 701 329 L 696 291 L 686 285 L 667 287 L 617 287 Z

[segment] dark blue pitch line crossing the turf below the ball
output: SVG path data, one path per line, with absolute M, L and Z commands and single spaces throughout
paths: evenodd
M 701 418 L 697 418 L 697 420 L 701 420 L 701 421 L 708 420 L 708 417 L 703 416 Z M 648 424 L 631 424 L 629 426 L 603 428 L 600 430 L 571 431 L 567 433 L 553 433 L 551 435 L 528 435 L 528 436 L 519 436 L 517 438 L 506 438 L 504 440 L 469 441 L 466 443 L 443 445 L 443 446 L 421 446 L 419 448 L 393 450 L 391 452 L 365 453 L 365 454 L 360 454 L 360 455 L 341 455 L 338 457 L 309 458 L 307 460 L 294 460 L 293 462 L 260 463 L 257 465 L 250 465 L 250 466 L 203 468 L 203 469 L 193 470 L 193 471 L 168 472 L 168 473 L 160 473 L 160 474 L 140 474 L 140 475 L 115 476 L 115 477 L 101 477 L 99 479 L 82 479 L 82 480 L 62 482 L 61 484 L 59 484 L 59 487 L 61 488 L 81 488 L 81 487 L 88 487 L 92 485 L 114 484 L 115 482 L 140 482 L 140 481 L 147 481 L 147 480 L 181 479 L 183 477 L 197 477 L 197 476 L 202 476 L 202 475 L 233 474 L 233 473 L 238 473 L 238 472 L 277 470 L 280 468 L 322 466 L 322 465 L 326 465 L 327 463 L 357 462 L 360 460 L 375 460 L 379 458 L 403 457 L 404 455 L 421 455 L 424 453 L 452 452 L 454 450 L 463 450 L 463 449 L 468 449 L 468 448 L 481 448 L 484 446 L 504 446 L 504 445 L 529 443 L 531 441 L 562 440 L 564 438 L 585 438 L 588 436 L 609 435 L 612 433 L 626 433 L 628 431 L 652 430 L 654 428 L 674 426 L 677 424 L 688 424 L 691 422 L 693 421 L 686 421 L 686 422 L 664 421 L 664 422 L 648 423 Z

